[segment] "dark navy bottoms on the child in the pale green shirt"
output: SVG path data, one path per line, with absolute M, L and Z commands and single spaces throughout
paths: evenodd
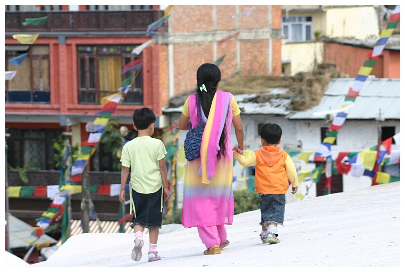
M 136 217 L 132 217 L 131 228 L 138 224 L 144 228 L 162 228 L 163 211 L 161 212 L 162 187 L 155 193 L 142 194 L 132 189 Z

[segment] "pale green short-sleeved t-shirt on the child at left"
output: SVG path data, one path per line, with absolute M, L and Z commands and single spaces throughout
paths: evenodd
M 161 140 L 149 136 L 137 137 L 122 148 L 122 166 L 131 168 L 131 186 L 138 193 L 150 194 L 162 185 L 159 160 L 167 154 Z

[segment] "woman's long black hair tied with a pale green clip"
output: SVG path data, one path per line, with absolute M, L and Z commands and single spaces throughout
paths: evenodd
M 208 118 L 209 110 L 211 109 L 212 100 L 214 99 L 214 95 L 218 88 L 218 83 L 221 81 L 221 70 L 219 67 L 213 63 L 204 63 L 197 69 L 197 89 L 196 95 L 199 96 L 200 99 L 198 101 L 201 104 L 202 110 L 204 111 L 205 117 Z M 205 90 L 200 90 L 204 84 L 206 88 Z M 222 130 L 221 137 L 219 138 L 219 152 L 217 157 L 226 157 L 227 154 L 225 152 L 226 147 L 226 126 L 227 123 L 225 122 L 224 129 Z

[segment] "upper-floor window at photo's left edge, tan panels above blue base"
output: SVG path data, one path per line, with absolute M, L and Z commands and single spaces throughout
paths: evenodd
M 49 46 L 34 45 L 28 51 L 21 46 L 7 46 L 5 70 L 17 71 L 12 80 L 5 80 L 6 103 L 49 103 Z M 8 60 L 28 53 L 20 65 Z

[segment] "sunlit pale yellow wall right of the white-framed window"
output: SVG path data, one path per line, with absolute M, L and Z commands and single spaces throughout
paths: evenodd
M 379 36 L 378 17 L 372 6 L 327 9 L 326 28 L 326 34 L 332 37 Z

